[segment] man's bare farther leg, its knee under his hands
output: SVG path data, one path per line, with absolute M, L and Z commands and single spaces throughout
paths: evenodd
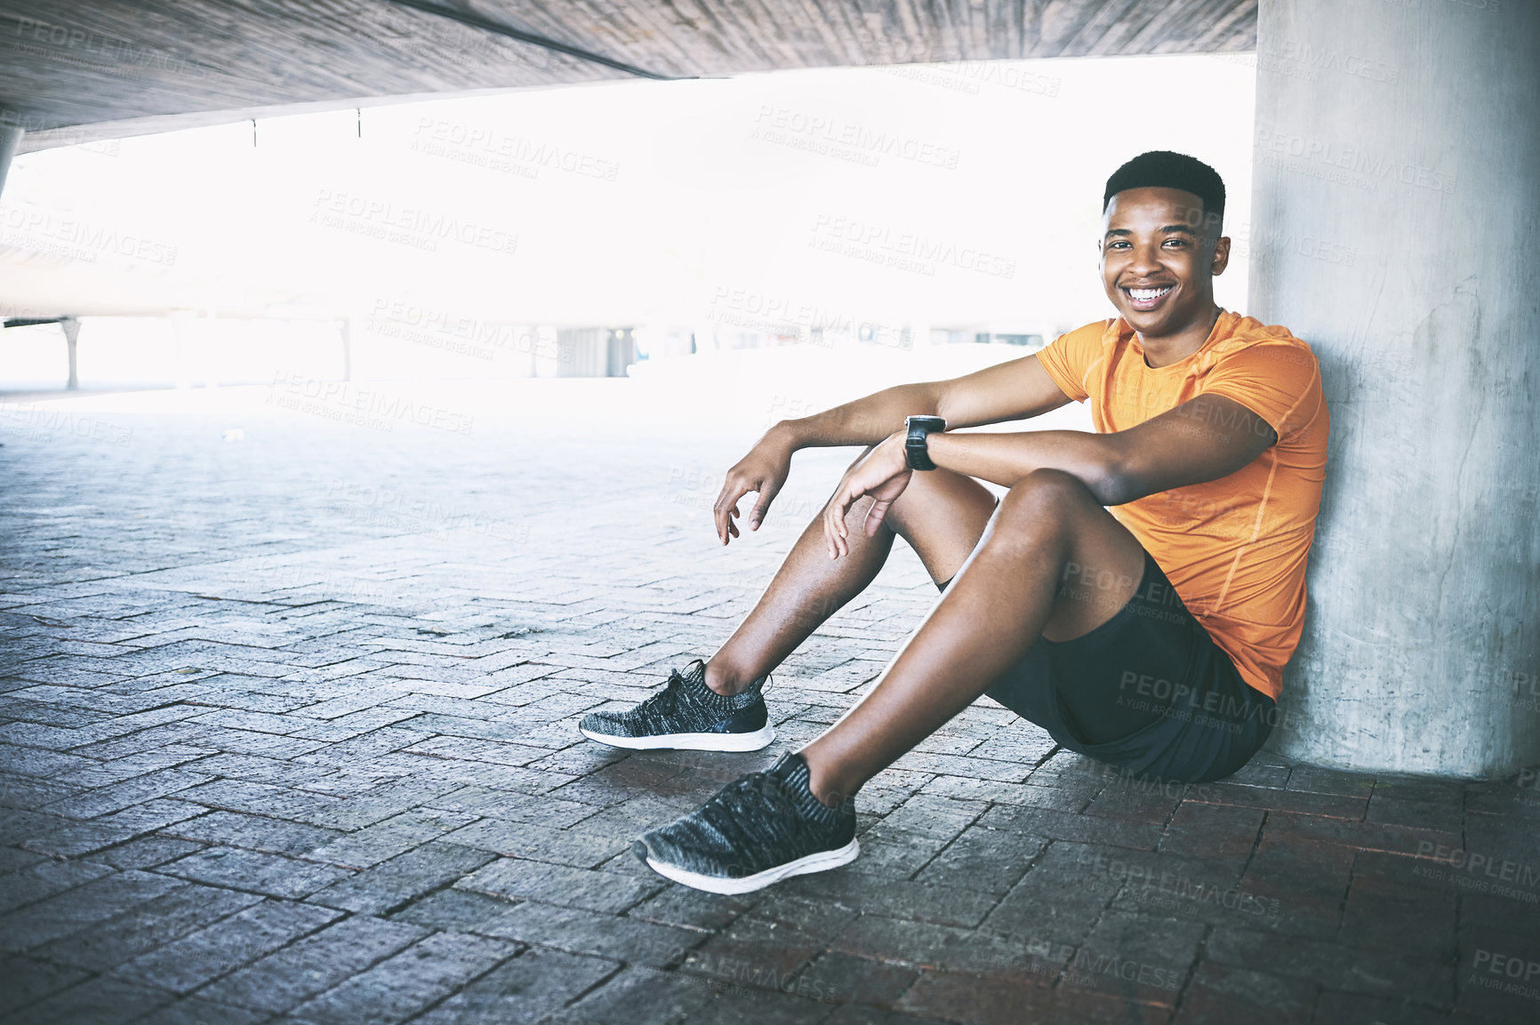
M 833 560 L 822 516 L 813 517 L 753 611 L 705 663 L 705 683 L 736 694 L 775 669 L 798 645 L 876 579 L 895 533 L 919 554 L 930 577 L 952 579 L 995 511 L 995 497 L 972 477 L 947 469 L 915 474 L 873 537 L 862 528 L 872 500 L 852 508 L 850 554 Z

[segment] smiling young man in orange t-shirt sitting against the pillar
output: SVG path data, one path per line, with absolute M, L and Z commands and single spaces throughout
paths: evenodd
M 1212 168 L 1146 152 L 1109 179 L 1103 206 L 1118 317 L 782 422 L 728 471 L 724 545 L 750 491 L 759 526 L 795 451 L 872 446 L 727 643 L 636 708 L 585 716 L 587 737 L 762 748 L 765 677 L 876 577 L 895 534 L 942 596 L 822 736 L 641 837 L 658 873 L 747 893 L 850 862 L 853 794 L 981 694 L 1144 779 L 1229 776 L 1266 740 L 1304 617 L 1329 426 L 1320 371 L 1284 328 L 1215 305 L 1230 240 Z M 949 431 L 1086 399 L 1092 434 Z M 1009 491 L 996 502 L 979 480 Z

